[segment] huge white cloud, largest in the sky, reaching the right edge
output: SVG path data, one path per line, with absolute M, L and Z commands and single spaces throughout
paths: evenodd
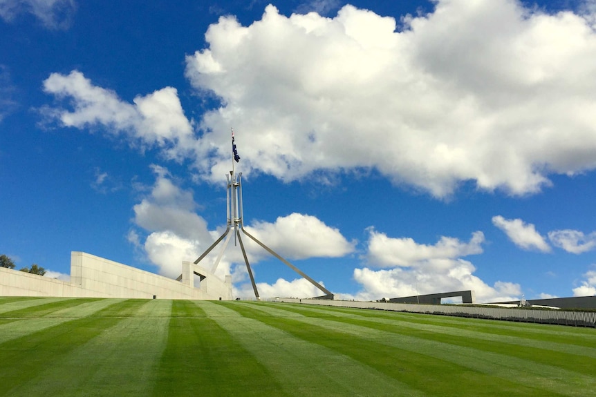
M 335 18 L 268 6 L 221 17 L 187 77 L 221 108 L 203 117 L 221 174 L 234 124 L 244 166 L 284 180 L 375 167 L 449 195 L 461 181 L 539 191 L 596 166 L 596 33 L 584 16 L 518 1 L 443 0 L 403 20 L 345 6 Z M 248 170 L 247 170 L 248 172 Z

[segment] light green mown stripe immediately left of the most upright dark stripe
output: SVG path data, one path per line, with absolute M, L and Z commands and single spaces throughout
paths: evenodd
M 167 343 L 169 316 L 164 314 L 170 309 L 171 300 L 148 300 L 134 316 L 95 318 L 116 323 L 31 374 L 11 396 L 149 396 Z

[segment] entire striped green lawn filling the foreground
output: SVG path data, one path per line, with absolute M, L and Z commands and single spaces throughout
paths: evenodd
M 274 302 L 0 298 L 0 396 L 596 396 L 596 329 Z

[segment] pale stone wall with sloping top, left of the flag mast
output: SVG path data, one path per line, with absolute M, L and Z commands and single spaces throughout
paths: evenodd
M 0 268 L 0 296 L 59 296 L 81 298 L 162 298 L 232 300 L 232 279 L 221 280 L 196 264 L 186 262 L 181 270 L 201 275 L 172 280 L 83 252 L 71 253 L 71 281 L 65 282 L 22 271 Z

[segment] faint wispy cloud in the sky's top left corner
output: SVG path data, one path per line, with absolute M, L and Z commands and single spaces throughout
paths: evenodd
M 0 17 L 7 22 L 19 14 L 33 14 L 46 28 L 66 29 L 77 6 L 75 0 L 0 0 Z

